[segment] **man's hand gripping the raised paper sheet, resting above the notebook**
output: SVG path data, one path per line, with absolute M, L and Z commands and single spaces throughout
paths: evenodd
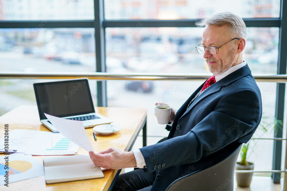
M 118 148 L 109 148 L 100 153 L 89 152 L 96 166 L 106 169 L 123 169 L 137 166 L 135 155 L 132 151 L 126 152 Z

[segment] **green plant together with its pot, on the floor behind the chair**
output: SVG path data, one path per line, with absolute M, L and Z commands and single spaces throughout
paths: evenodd
M 271 119 L 268 116 L 262 116 L 259 127 L 260 129 L 263 130 L 263 134 L 266 133 L 268 129 L 270 129 L 270 127 L 273 127 L 272 129 L 275 129 L 276 126 L 282 130 L 283 122 L 281 120 L 277 120 L 275 117 Z M 257 142 L 255 142 L 253 147 L 257 144 Z M 249 144 L 250 143 L 248 142 L 247 144 L 242 145 L 241 161 L 236 162 L 235 170 L 253 170 L 254 169 L 254 164 L 246 160 L 247 151 L 249 149 Z M 241 187 L 249 187 L 251 184 L 252 176 L 253 176 L 253 173 L 237 173 L 236 174 L 237 185 Z

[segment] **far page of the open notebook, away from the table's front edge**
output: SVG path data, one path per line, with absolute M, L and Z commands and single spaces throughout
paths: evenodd
M 80 164 L 92 162 L 90 155 L 72 155 L 61 157 L 46 157 L 43 158 L 44 166 L 60 166 L 69 164 Z

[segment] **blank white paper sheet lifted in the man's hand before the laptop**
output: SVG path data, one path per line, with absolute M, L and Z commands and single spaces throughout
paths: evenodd
M 82 121 L 75 121 L 69 119 L 62 119 L 53 115 L 44 113 L 52 125 L 61 133 L 64 137 L 71 140 L 76 145 L 82 147 L 87 151 L 94 151 L 88 135 L 85 131 Z

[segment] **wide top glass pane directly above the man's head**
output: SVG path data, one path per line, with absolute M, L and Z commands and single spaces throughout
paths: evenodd
M 106 19 L 199 19 L 224 11 L 242 18 L 278 18 L 280 0 L 105 0 Z

